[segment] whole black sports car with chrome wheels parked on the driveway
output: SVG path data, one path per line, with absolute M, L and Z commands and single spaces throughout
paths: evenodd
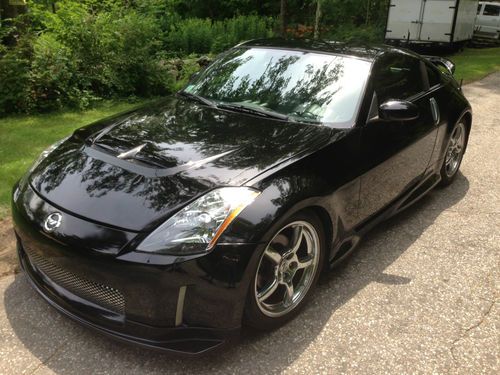
M 294 317 L 370 228 L 456 177 L 453 64 L 259 40 L 177 95 L 75 131 L 14 187 L 19 257 L 64 314 L 196 354 Z

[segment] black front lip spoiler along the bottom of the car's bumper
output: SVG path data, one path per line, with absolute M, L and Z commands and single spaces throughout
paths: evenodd
M 112 339 L 167 354 L 193 357 L 202 356 L 206 353 L 219 350 L 239 336 L 239 328 L 213 329 L 203 327 L 158 327 L 159 331 L 165 332 L 165 337 L 167 337 L 167 339 L 164 341 L 155 341 L 127 335 L 100 326 L 73 313 L 71 311 L 70 304 L 66 303 L 64 299 L 57 296 L 49 288 L 44 286 L 43 282 L 41 282 L 41 278 L 37 276 L 36 271 L 31 267 L 29 262 L 26 261 L 26 255 L 19 244 L 17 246 L 17 252 L 21 268 L 27 275 L 27 279 L 45 301 L 68 318 Z M 174 331 L 176 333 L 176 338 L 168 339 L 168 335 L 172 334 Z M 182 338 L 182 336 L 185 336 L 185 338 Z

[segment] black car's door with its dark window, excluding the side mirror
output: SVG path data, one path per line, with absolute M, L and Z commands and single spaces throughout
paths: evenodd
M 377 213 L 422 179 L 439 123 L 439 107 L 428 90 L 422 60 L 403 53 L 384 55 L 373 67 L 370 87 L 372 106 L 361 134 L 364 173 L 360 220 Z M 379 118 L 379 106 L 390 99 L 415 104 L 418 118 L 404 122 Z

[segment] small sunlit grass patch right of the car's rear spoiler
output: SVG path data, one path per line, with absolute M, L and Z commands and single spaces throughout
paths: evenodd
M 448 56 L 457 66 L 455 77 L 458 81 L 470 83 L 500 71 L 500 48 L 470 48 Z

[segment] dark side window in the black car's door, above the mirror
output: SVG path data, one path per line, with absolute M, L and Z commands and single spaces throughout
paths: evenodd
M 408 55 L 383 57 L 377 64 L 374 88 L 379 103 L 388 99 L 408 99 L 424 89 L 420 60 Z

